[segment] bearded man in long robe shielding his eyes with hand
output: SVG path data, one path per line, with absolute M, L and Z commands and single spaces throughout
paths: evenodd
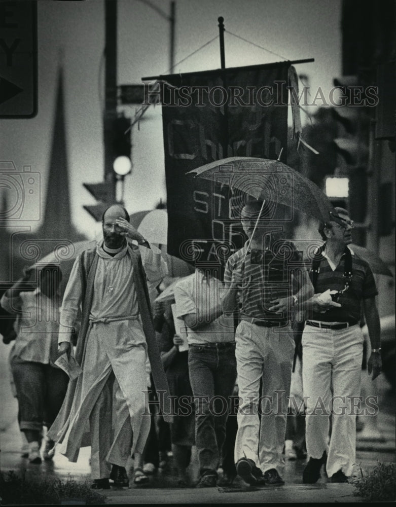
M 158 283 L 167 268 L 160 250 L 129 224 L 121 206 L 105 211 L 102 229 L 104 241 L 76 260 L 64 294 L 59 353 L 70 353 L 81 306 L 75 356 L 82 374 L 70 382 L 51 438 L 69 461 L 77 461 L 80 448 L 91 445 L 93 487 L 108 489 L 109 478 L 128 485 L 125 466 L 131 453 L 135 473 L 141 463 L 150 429 L 148 359 L 155 387 L 165 394 L 160 395 L 164 417 L 170 417 L 146 283 L 146 277 Z

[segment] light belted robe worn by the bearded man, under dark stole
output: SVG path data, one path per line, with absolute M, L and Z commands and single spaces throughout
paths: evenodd
M 90 325 L 81 361 L 83 373 L 73 389 L 71 405 L 62 415 L 60 412 L 62 423 L 55 421 L 50 430 L 50 437 L 60 442 L 60 452 L 70 461 L 77 461 L 80 447 L 92 446 L 94 479 L 109 477 L 109 463 L 125 466 L 130 453 L 142 452 L 150 429 L 145 394 L 147 342 L 129 248 L 111 257 L 97 247 Z M 147 276 L 158 282 L 166 272 L 159 250 L 141 250 Z M 63 299 L 59 342 L 70 340 L 82 299 L 77 260 Z

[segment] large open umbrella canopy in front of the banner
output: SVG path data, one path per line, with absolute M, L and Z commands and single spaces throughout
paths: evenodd
M 298 209 L 326 222 L 334 207 L 308 178 L 278 160 L 230 157 L 205 164 L 187 174 L 228 185 L 259 200 Z

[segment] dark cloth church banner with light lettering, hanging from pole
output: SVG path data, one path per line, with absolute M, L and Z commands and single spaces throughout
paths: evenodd
M 186 173 L 227 157 L 277 159 L 282 148 L 285 162 L 288 69 L 241 67 L 160 82 L 171 255 L 224 266 L 243 245 L 240 199 Z

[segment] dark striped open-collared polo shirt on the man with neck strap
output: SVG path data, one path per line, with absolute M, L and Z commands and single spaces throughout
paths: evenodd
M 349 248 L 349 247 L 348 247 Z M 361 318 L 361 305 L 363 299 L 373 298 L 378 295 L 377 286 L 369 264 L 352 253 L 352 282 L 347 291 L 342 293 L 338 299 L 341 307 L 333 307 L 325 313 L 312 312 L 310 320 L 322 322 L 358 322 Z M 324 253 L 324 252 L 323 252 Z M 315 294 L 323 293 L 327 289 L 342 291 L 345 287 L 345 253 L 333 271 L 329 261 L 323 255 L 320 262 L 319 273 L 315 286 Z

